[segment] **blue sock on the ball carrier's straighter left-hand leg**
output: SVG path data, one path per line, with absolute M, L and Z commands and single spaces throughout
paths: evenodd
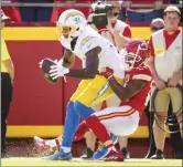
M 74 135 L 79 125 L 79 115 L 74 109 L 74 102 L 69 102 L 66 108 L 62 146 L 72 147 Z

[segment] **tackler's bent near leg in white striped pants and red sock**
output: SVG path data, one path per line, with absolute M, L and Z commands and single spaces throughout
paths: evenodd
M 139 123 L 139 114 L 136 112 L 136 119 L 133 119 L 133 117 L 129 118 L 129 115 L 132 115 L 134 112 L 136 111 L 132 109 L 130 106 L 109 107 L 89 116 L 86 119 L 86 124 L 96 134 L 96 136 L 106 145 L 109 142 L 108 132 L 121 136 L 129 135 L 137 129 Z M 108 152 L 106 154 L 108 154 Z M 103 158 L 106 155 L 97 157 L 97 159 Z

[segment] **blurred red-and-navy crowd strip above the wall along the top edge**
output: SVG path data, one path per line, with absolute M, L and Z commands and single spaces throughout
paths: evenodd
M 2 9 L 13 22 L 55 22 L 60 13 L 68 8 L 78 9 L 88 15 L 90 3 L 95 1 L 2 0 L 1 3 L 6 4 L 6 7 L 2 6 Z M 37 3 L 39 7 L 35 7 L 34 3 Z M 181 7 L 182 0 L 122 0 L 119 19 L 131 24 L 149 23 L 155 18 L 163 18 L 163 9 L 170 3 Z

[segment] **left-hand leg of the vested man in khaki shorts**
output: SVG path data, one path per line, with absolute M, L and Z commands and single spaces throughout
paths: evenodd
M 151 157 L 151 159 L 162 159 L 163 158 L 163 149 L 165 142 L 165 118 L 160 119 L 160 117 L 166 117 L 168 108 L 170 103 L 170 96 L 166 92 L 166 88 L 160 90 L 154 100 L 155 106 L 155 115 L 153 123 L 153 133 L 154 140 L 157 146 L 155 155 Z M 159 116 L 158 116 L 159 115 Z

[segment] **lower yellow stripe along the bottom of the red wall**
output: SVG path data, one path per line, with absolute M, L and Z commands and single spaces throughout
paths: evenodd
M 63 134 L 64 126 L 8 126 L 7 137 L 57 137 Z M 148 127 L 139 126 L 129 138 L 147 138 Z

